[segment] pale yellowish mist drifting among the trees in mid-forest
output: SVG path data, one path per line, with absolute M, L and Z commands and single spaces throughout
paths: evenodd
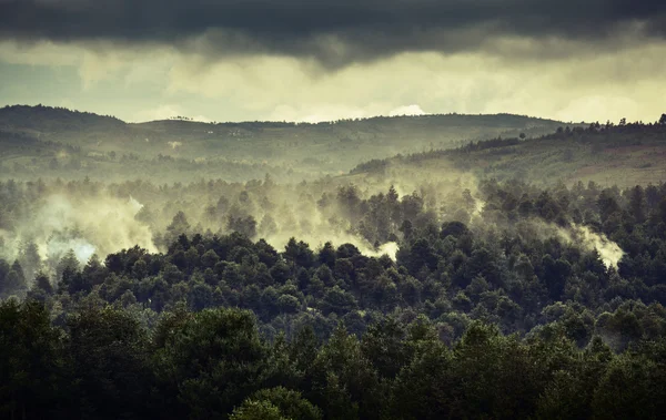
M 436 177 L 435 177 L 436 175 Z M 312 249 L 326 243 L 354 245 L 363 255 L 387 255 L 397 260 L 410 232 L 445 222 L 465 223 L 480 235 L 513 231 L 497 219 L 474 175 L 444 164 L 436 168 L 391 164 L 379 174 L 350 175 L 312 183 L 226 183 L 155 186 L 125 183 L 69 186 L 47 185 L 44 193 L 2 232 L 3 257 L 19 257 L 28 243 L 37 245 L 46 268 L 54 270 L 71 249 L 81 265 L 134 246 L 167 253 L 179 235 L 228 235 L 239 232 L 284 249 L 291 238 Z M 99 189 L 98 189 L 99 188 Z M 405 227 L 403 217 L 411 221 Z M 527 224 L 527 225 L 525 225 Z M 413 227 L 412 227 L 413 226 Z M 534 238 L 555 238 L 585 252 L 598 252 L 607 267 L 617 269 L 624 252 L 604 234 L 576 223 L 562 227 L 541 218 L 523 222 Z M 527 231 L 525 227 L 529 226 Z M 44 267 L 26 267 L 37 273 Z

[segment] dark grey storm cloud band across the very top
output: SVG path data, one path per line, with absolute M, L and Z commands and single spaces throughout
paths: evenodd
M 314 57 L 329 65 L 461 51 L 495 37 L 663 39 L 664 0 L 0 0 L 0 37 Z

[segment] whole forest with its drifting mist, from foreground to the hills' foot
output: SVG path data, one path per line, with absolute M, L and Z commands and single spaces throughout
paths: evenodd
M 8 176 L 0 417 L 657 419 L 666 184 L 467 166 L 659 147 L 665 125 L 297 182 Z

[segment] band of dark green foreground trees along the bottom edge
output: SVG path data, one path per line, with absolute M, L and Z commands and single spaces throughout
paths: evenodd
M 69 332 L 48 315 L 0 304 L 4 417 L 657 418 L 665 408 L 664 338 L 615 355 L 598 336 L 579 349 L 563 329 L 519 339 L 475 321 L 451 348 L 420 316 L 386 318 L 361 339 L 339 327 L 320 347 L 311 328 L 271 345 L 239 309 L 180 307 L 150 337 L 124 310 L 85 309 Z

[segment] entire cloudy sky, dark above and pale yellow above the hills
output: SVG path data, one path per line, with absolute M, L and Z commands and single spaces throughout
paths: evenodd
M 0 0 L 0 105 L 656 121 L 664 0 Z

